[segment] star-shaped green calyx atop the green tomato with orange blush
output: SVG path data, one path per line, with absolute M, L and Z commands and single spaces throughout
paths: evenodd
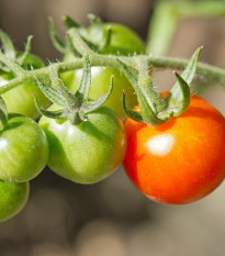
M 113 80 L 111 78 L 110 88 L 105 96 L 95 101 L 88 99 L 91 86 L 91 66 L 89 56 L 86 55 L 83 64 L 82 79 L 80 81 L 78 91 L 72 94 L 65 86 L 58 76 L 56 66 L 49 66 L 49 77 L 52 87 L 44 85 L 41 80 L 36 79 L 38 88 L 44 94 L 54 103 L 61 107 L 58 111 L 48 111 L 40 107 L 36 97 L 34 98 L 36 109 L 41 114 L 52 119 L 67 119 L 74 125 L 79 125 L 86 120 L 86 114 L 100 108 L 110 97 L 113 88 Z

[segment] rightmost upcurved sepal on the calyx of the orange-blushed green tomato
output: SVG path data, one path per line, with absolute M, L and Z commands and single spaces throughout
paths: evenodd
M 99 98 L 98 100 L 94 100 L 94 101 L 91 100 L 91 101 L 87 101 L 87 103 L 83 103 L 80 108 L 81 111 L 85 114 L 88 114 L 88 113 L 99 109 L 100 107 L 102 107 L 105 103 L 105 101 L 109 99 L 109 97 L 111 96 L 112 90 L 113 90 L 113 76 L 110 79 L 110 87 L 109 87 L 108 92 L 104 96 L 102 96 L 101 98 Z

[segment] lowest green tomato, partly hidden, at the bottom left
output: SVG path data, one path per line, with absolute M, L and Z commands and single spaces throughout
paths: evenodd
M 19 213 L 29 198 L 29 182 L 5 182 L 0 180 L 0 222 Z

